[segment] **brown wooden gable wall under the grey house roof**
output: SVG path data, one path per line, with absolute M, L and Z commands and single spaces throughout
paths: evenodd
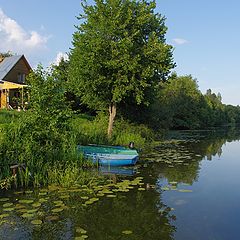
M 19 74 L 25 74 L 27 76 L 30 69 L 27 67 L 23 58 L 21 58 L 18 63 L 12 68 L 12 70 L 5 76 L 4 81 L 23 83 L 19 79 Z

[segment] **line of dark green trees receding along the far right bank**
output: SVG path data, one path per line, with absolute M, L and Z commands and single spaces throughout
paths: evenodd
M 154 129 L 206 129 L 240 123 L 240 107 L 222 103 L 221 94 L 205 94 L 191 75 L 173 73 L 159 85 L 149 106 L 128 104 L 121 113 Z

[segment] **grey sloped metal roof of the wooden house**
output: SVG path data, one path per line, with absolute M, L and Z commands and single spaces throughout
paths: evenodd
M 0 63 L 0 80 L 3 80 L 4 77 L 11 71 L 11 69 L 17 64 L 17 62 L 23 58 L 27 67 L 31 69 L 24 55 L 14 55 L 11 57 L 6 57 Z

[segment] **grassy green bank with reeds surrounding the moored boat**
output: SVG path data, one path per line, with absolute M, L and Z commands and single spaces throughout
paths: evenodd
M 91 177 L 84 171 L 93 167 L 77 150 L 77 144 L 128 145 L 143 148 L 153 139 L 145 126 L 124 120 L 115 122 L 114 134 L 107 137 L 108 118 L 72 114 L 62 123 L 49 116 L 16 111 L 0 111 L 0 188 L 71 186 L 86 183 Z M 24 164 L 12 175 L 11 165 Z

